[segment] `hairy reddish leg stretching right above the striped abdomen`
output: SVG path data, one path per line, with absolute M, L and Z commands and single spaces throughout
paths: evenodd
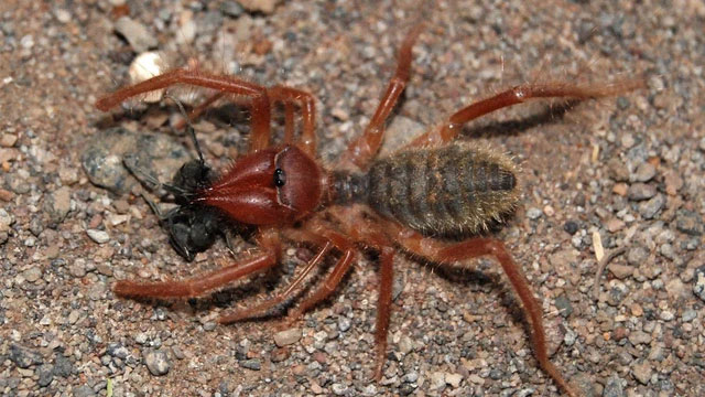
M 449 142 L 459 133 L 464 124 L 495 110 L 536 98 L 589 99 L 619 95 L 643 86 L 643 81 L 633 79 L 615 84 L 578 85 L 571 83 L 525 84 L 478 100 L 453 114 L 441 127 L 414 139 L 411 147 L 436 147 Z

